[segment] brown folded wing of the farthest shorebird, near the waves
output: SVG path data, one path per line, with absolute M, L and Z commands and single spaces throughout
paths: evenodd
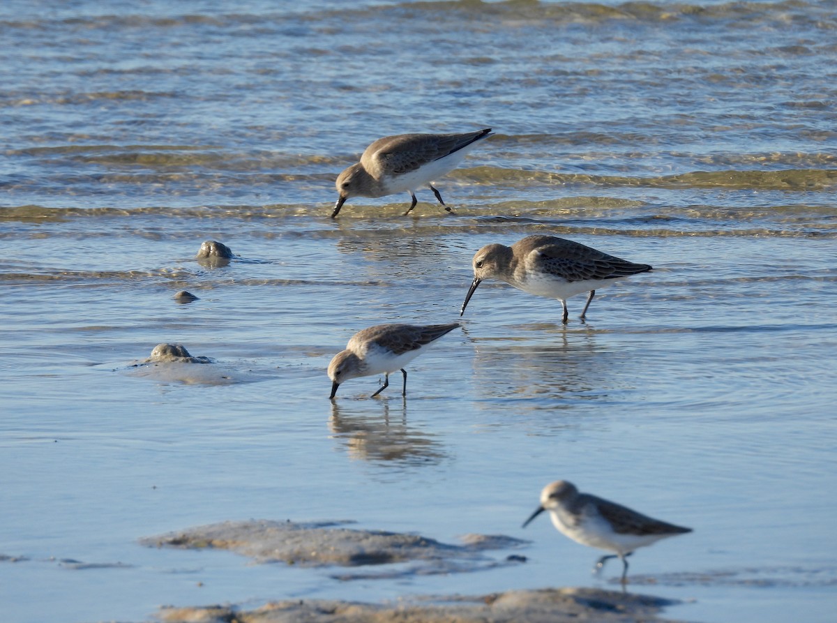
M 487 131 L 480 130 L 466 134 L 384 136 L 367 147 L 361 157 L 361 164 L 375 177 L 380 177 L 382 172 L 401 175 L 449 156 L 486 134 Z

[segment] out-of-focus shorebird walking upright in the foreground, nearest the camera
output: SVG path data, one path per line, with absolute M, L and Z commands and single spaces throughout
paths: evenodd
M 541 506 L 523 523 L 523 528 L 544 511 L 552 516 L 552 525 L 573 541 L 615 554 L 602 556 L 595 570 L 607 559 L 622 560 L 622 583 L 628 576 L 628 561 L 634 549 L 656 543 L 661 538 L 690 533 L 672 523 L 661 522 L 589 493 L 579 493 L 571 482 L 555 481 L 543 487 Z

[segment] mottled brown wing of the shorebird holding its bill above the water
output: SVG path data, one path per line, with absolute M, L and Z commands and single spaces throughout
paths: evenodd
M 558 275 L 567 281 L 616 279 L 651 270 L 650 265 L 634 264 L 572 240 L 542 245 L 526 258 L 531 268 Z

